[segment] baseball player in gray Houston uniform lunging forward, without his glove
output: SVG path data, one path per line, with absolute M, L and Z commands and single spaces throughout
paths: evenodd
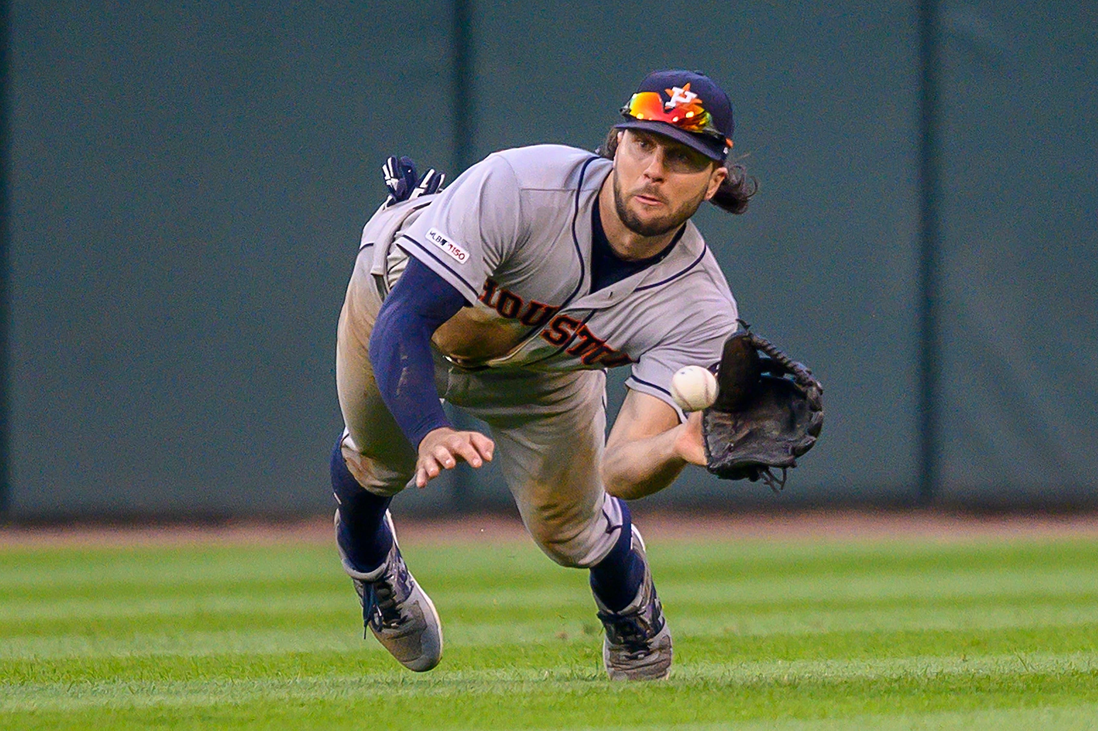
M 708 77 L 653 73 L 621 114 L 601 154 L 506 149 L 440 192 L 434 170 L 386 164 L 391 195 L 363 229 L 339 315 L 332 483 L 365 623 L 411 669 L 439 662 L 442 633 L 390 501 L 458 462 L 496 461 L 538 546 L 590 571 L 609 677 L 669 673 L 625 500 L 705 463 L 701 413 L 683 413 L 670 381 L 719 359 L 737 308 L 690 219 L 707 200 L 743 212 L 754 185 L 727 163 L 732 109 Z M 605 372 L 618 366 L 629 390 L 606 438 Z M 440 399 L 491 435 L 455 429 Z

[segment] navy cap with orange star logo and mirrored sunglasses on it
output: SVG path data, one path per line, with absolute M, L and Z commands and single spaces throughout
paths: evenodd
M 724 163 L 732 148 L 732 102 L 705 74 L 652 71 L 621 108 L 618 130 L 647 130 L 676 140 Z

